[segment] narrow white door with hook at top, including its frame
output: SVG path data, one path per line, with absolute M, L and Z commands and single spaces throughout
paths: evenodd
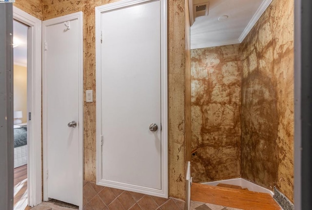
M 43 200 L 82 209 L 82 12 L 42 22 Z M 77 127 L 68 127 L 71 121 Z

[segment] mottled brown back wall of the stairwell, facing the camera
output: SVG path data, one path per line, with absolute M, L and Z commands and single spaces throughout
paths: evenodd
M 239 45 L 191 50 L 194 182 L 240 176 Z

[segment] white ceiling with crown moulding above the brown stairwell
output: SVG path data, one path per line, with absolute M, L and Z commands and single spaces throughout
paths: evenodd
M 272 0 L 207 1 L 210 2 L 208 16 L 197 17 L 191 26 L 191 49 L 241 43 L 272 2 Z M 228 18 L 218 20 L 222 16 Z

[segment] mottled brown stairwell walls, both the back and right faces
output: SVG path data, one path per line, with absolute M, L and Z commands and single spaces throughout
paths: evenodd
M 293 0 L 273 0 L 241 44 L 191 56 L 193 180 L 241 176 L 293 202 Z

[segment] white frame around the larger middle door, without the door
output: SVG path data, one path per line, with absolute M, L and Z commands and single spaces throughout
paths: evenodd
M 101 152 L 101 13 L 156 0 L 123 0 L 96 7 L 96 83 L 97 83 L 97 184 L 122 190 L 168 198 L 168 78 L 167 78 L 167 0 L 161 5 L 161 190 L 107 181 L 102 178 Z M 142 157 L 144 158 L 144 157 Z

